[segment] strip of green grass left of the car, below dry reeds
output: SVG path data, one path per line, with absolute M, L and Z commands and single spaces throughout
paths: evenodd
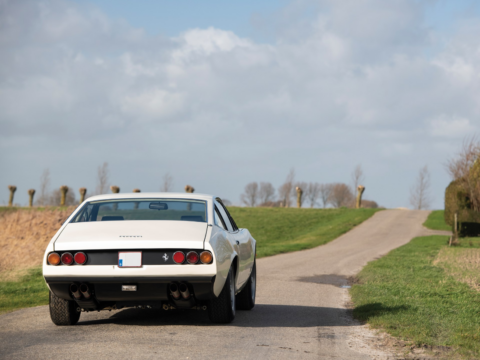
M 3 272 L 0 281 L 0 314 L 48 304 L 48 288 L 41 267 Z

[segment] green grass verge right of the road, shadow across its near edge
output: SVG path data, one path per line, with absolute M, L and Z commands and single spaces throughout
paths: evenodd
M 450 346 L 478 358 L 480 293 L 435 265 L 447 241 L 416 238 L 369 263 L 351 289 L 354 316 L 417 346 Z

